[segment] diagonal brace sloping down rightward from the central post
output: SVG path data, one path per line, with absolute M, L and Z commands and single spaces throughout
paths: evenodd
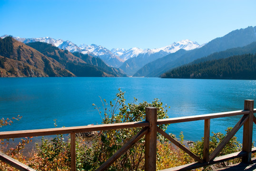
M 174 143 L 178 148 L 180 148 L 181 150 L 183 150 L 184 152 L 186 152 L 188 155 L 190 155 L 193 159 L 195 159 L 196 161 L 199 161 L 200 163 L 204 163 L 205 161 L 203 161 L 202 159 L 200 159 L 200 157 L 198 157 L 196 154 L 194 154 L 193 152 L 191 152 L 190 150 L 188 150 L 184 145 L 182 145 L 180 142 L 178 142 L 177 140 L 175 140 L 174 138 L 172 138 L 169 134 L 167 134 L 166 132 L 164 132 L 162 129 L 160 129 L 158 127 L 158 133 L 161 133 L 164 137 L 166 137 L 170 142 Z

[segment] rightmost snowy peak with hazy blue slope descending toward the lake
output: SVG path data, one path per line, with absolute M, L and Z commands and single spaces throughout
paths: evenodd
M 191 50 L 199 47 L 197 42 L 190 40 L 181 40 L 174 42 L 171 45 L 155 49 L 139 49 L 131 48 L 127 52 L 123 53 L 120 58 L 127 59 L 120 68 L 124 70 L 129 76 L 134 75 L 142 66 L 154 61 L 160 57 L 164 57 L 168 54 L 174 53 L 179 49 Z M 115 52 L 114 50 L 112 50 Z

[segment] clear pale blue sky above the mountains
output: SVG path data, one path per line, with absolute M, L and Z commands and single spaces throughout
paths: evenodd
M 78 46 L 199 44 L 256 26 L 256 0 L 0 0 L 0 36 L 51 37 Z

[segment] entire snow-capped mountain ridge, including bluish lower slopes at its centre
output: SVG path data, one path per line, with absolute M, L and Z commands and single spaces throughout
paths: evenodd
M 5 38 L 10 35 L 3 35 L 1 38 Z M 132 47 L 128 50 L 122 49 L 121 52 L 120 49 L 115 49 L 112 48 L 111 50 L 108 50 L 105 47 L 98 46 L 95 44 L 91 45 L 86 45 L 86 44 L 81 44 L 77 46 L 73 42 L 69 40 L 62 40 L 62 39 L 54 39 L 54 38 L 49 38 L 49 37 L 44 37 L 44 38 L 20 38 L 20 37 L 13 37 L 18 41 L 21 41 L 23 43 L 32 43 L 32 42 L 44 42 L 44 43 L 49 43 L 52 44 L 53 46 L 59 47 L 60 49 L 63 50 L 69 50 L 70 52 L 80 52 L 83 54 L 89 54 L 93 57 L 100 57 L 101 59 L 104 60 L 106 64 L 109 66 L 114 66 L 114 67 L 120 67 L 123 65 L 123 63 L 128 60 L 129 58 L 132 57 L 138 57 L 141 54 L 146 54 L 146 53 L 158 53 L 160 50 L 166 51 L 166 54 L 173 53 L 172 49 L 176 49 L 177 46 L 183 45 L 184 42 L 187 42 L 187 46 L 181 47 L 181 48 L 189 48 L 189 44 L 192 42 L 190 40 L 181 40 L 179 42 L 174 42 L 171 45 L 167 45 L 165 47 L 160 47 L 160 48 L 155 48 L 155 49 L 140 49 L 138 47 Z M 195 45 L 199 45 L 197 42 L 195 42 Z M 190 47 L 190 48 L 196 48 L 196 47 Z M 170 50 L 171 49 L 171 50 Z M 119 50 L 119 51 L 118 51 Z M 177 49 L 178 50 L 178 49 Z M 117 52 L 118 51 L 118 52 Z M 129 52 L 128 52 L 129 51 Z M 127 52 L 127 53 L 126 53 Z M 126 53 L 126 54 L 124 54 Z M 162 54 L 162 53 L 160 53 Z M 122 56 L 123 55 L 123 56 Z

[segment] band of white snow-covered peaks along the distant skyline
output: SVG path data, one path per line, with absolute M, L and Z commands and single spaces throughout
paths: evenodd
M 1 38 L 5 38 L 9 35 L 3 35 Z M 13 37 L 15 38 L 15 37 Z M 132 57 L 138 57 L 139 55 L 152 55 L 154 53 L 160 53 L 163 54 L 170 54 L 174 53 L 179 49 L 185 49 L 185 50 L 191 50 L 194 48 L 200 47 L 200 45 L 197 42 L 193 42 L 189 39 L 181 40 L 178 42 L 174 42 L 171 45 L 165 46 L 165 47 L 160 47 L 160 48 L 155 48 L 155 49 L 141 49 L 138 47 L 132 47 L 130 49 L 124 49 L 124 48 L 112 48 L 111 51 L 108 50 L 105 47 L 98 46 L 96 44 L 91 44 L 91 45 L 86 45 L 86 44 L 81 44 L 79 47 L 72 43 L 69 40 L 62 40 L 62 39 L 54 39 L 50 37 L 45 37 L 45 38 L 19 38 L 16 37 L 18 41 L 21 41 L 23 43 L 30 43 L 30 42 L 45 42 L 52 44 L 55 47 L 59 47 L 60 49 L 67 49 L 70 52 L 81 52 L 83 54 L 93 54 L 95 56 L 98 56 L 102 58 L 103 60 L 109 60 L 111 58 L 117 58 L 118 61 L 126 61 L 129 58 Z

